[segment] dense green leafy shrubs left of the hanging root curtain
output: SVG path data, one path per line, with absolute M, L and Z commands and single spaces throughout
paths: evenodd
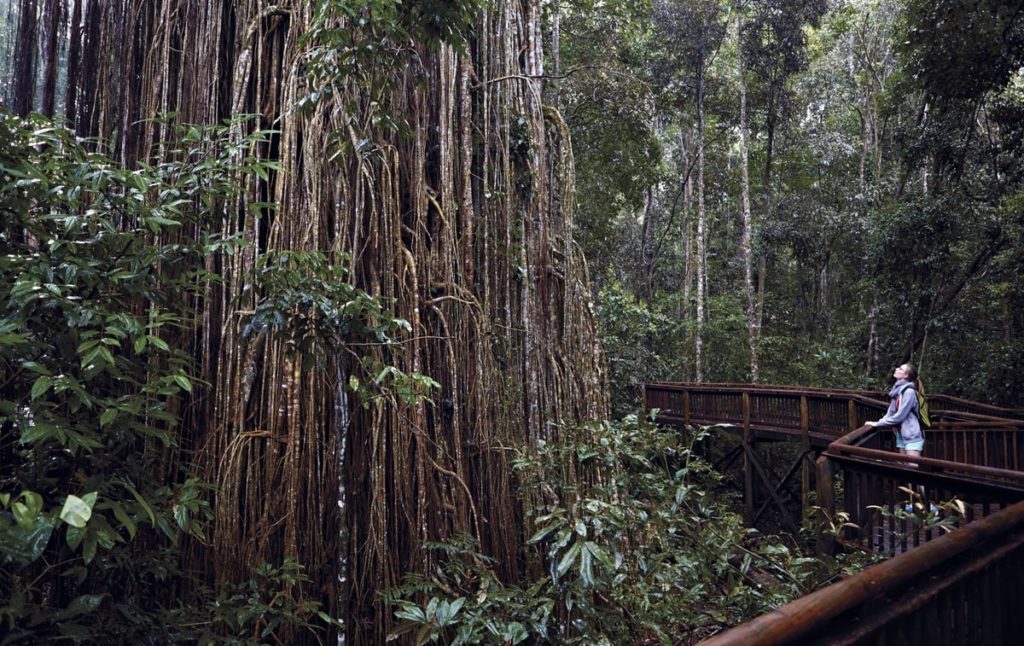
M 127 169 L 41 118 L 0 113 L 0 643 L 273 641 L 333 622 L 301 566 L 204 588 L 212 487 L 181 424 L 185 340 L 237 253 L 218 232 L 265 176 L 268 134 L 183 128 Z M 238 586 L 241 588 L 234 588 Z

